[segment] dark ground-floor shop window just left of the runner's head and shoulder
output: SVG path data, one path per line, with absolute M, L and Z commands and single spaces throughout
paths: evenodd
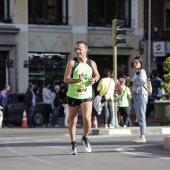
M 67 56 L 66 54 L 29 53 L 29 83 L 42 89 L 46 82 L 63 81 Z

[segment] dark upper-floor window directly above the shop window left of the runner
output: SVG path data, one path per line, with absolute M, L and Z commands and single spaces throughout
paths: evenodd
M 28 0 L 28 23 L 68 24 L 68 0 Z

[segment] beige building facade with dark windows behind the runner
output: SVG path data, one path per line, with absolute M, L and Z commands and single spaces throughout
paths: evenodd
M 126 22 L 126 43 L 117 47 L 118 77 L 133 75 L 131 61 L 138 55 L 147 70 L 147 5 L 145 0 L 0 0 L 1 89 L 10 84 L 12 92 L 25 92 L 29 82 L 40 88 L 46 81 L 61 82 L 79 40 L 88 43 L 88 57 L 101 77 L 105 69 L 114 70 L 115 18 Z

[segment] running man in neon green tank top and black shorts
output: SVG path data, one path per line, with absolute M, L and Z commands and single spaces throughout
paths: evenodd
M 72 150 L 70 154 L 77 155 L 76 125 L 78 110 L 81 108 L 83 117 L 83 136 L 81 139 L 85 152 L 91 152 L 88 134 L 91 128 L 92 85 L 100 79 L 97 65 L 87 57 L 88 44 L 84 41 L 76 43 L 77 57 L 70 59 L 66 66 L 64 83 L 69 84 L 67 103 L 69 107 L 69 133 Z

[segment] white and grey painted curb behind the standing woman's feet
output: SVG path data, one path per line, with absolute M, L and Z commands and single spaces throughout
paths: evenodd
M 91 135 L 138 135 L 139 127 L 92 128 Z M 147 134 L 170 134 L 170 127 L 147 127 Z M 169 136 L 170 138 L 170 136 Z M 169 139 L 170 140 L 170 139 Z

